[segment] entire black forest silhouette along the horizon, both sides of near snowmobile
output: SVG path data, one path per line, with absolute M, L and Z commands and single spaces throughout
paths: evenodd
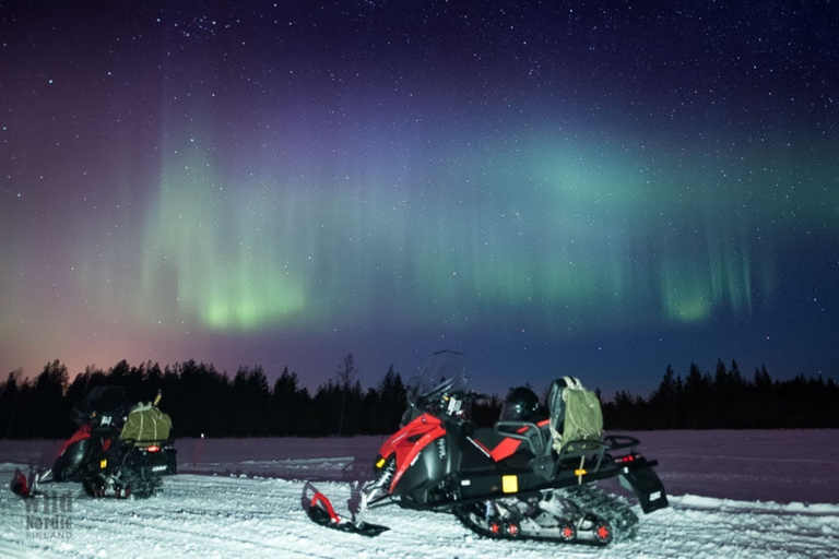
M 327 437 L 393 432 L 405 409 L 405 384 L 391 365 L 376 388 L 356 380 L 352 354 L 335 380 L 314 395 L 287 367 L 269 382 L 262 367 L 240 367 L 231 379 L 212 364 L 189 360 L 166 366 L 122 360 L 108 369 L 87 368 L 73 381 L 59 360 L 34 380 L 9 373 L 0 384 L 0 437 L 64 438 L 74 429 L 73 403 L 96 385 L 125 386 L 129 400 L 164 394 L 178 437 Z M 584 383 L 584 379 L 583 383 Z M 598 396 L 601 396 L 600 391 Z M 602 397 L 601 397 L 602 400 Z M 481 425 L 498 416 L 503 397 L 480 402 L 472 414 Z M 690 365 L 686 378 L 667 366 L 659 388 L 643 399 L 619 391 L 602 402 L 607 430 L 779 429 L 839 427 L 839 388 L 830 380 L 795 377 L 772 381 L 765 367 L 744 378 L 736 361 L 717 362 L 714 374 Z

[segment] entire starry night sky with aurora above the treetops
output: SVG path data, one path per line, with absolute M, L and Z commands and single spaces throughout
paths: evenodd
M 0 373 L 839 379 L 838 16 L 0 1 Z

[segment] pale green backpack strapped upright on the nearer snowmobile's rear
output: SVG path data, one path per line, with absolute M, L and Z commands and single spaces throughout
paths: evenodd
M 551 384 L 547 396 L 551 435 L 556 452 L 569 441 L 603 440 L 603 412 L 598 395 L 583 388 L 579 379 L 563 377 Z M 568 450 L 574 450 L 569 445 Z

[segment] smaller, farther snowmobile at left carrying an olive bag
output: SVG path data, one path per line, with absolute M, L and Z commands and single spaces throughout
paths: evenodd
M 81 483 L 91 497 L 146 498 L 163 487 L 162 476 L 177 473 L 177 451 L 169 438 L 172 421 L 153 403 L 129 408 L 121 386 L 91 390 L 71 417 L 78 430 L 64 442 L 49 469 L 15 471 L 11 489 L 34 497 L 42 486 Z

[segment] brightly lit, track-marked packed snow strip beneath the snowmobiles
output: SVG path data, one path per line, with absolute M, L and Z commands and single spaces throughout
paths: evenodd
M 3 468 L 3 474 L 8 473 Z M 60 486 L 59 486 L 60 487 Z M 0 554 L 9 557 L 516 557 L 544 558 L 556 544 L 499 542 L 474 536 L 452 515 L 395 507 L 370 514 L 390 531 L 375 539 L 311 523 L 303 509 L 302 481 L 181 475 L 147 500 L 94 500 L 78 488 L 71 510 L 28 512 L 0 498 Z M 343 483 L 321 483 L 336 506 L 350 497 Z M 637 537 L 608 548 L 563 546 L 563 557 L 836 557 L 839 506 L 778 504 L 695 496 L 674 497 L 671 508 L 641 516 Z M 637 511 L 639 514 L 640 511 Z M 27 520 L 27 514 L 31 519 Z M 70 528 L 36 530 L 56 516 Z M 27 527 L 27 522 L 29 526 Z M 38 526 L 38 524 L 35 524 Z M 64 532 L 66 534 L 62 534 Z M 66 536 L 66 537 L 64 537 Z

